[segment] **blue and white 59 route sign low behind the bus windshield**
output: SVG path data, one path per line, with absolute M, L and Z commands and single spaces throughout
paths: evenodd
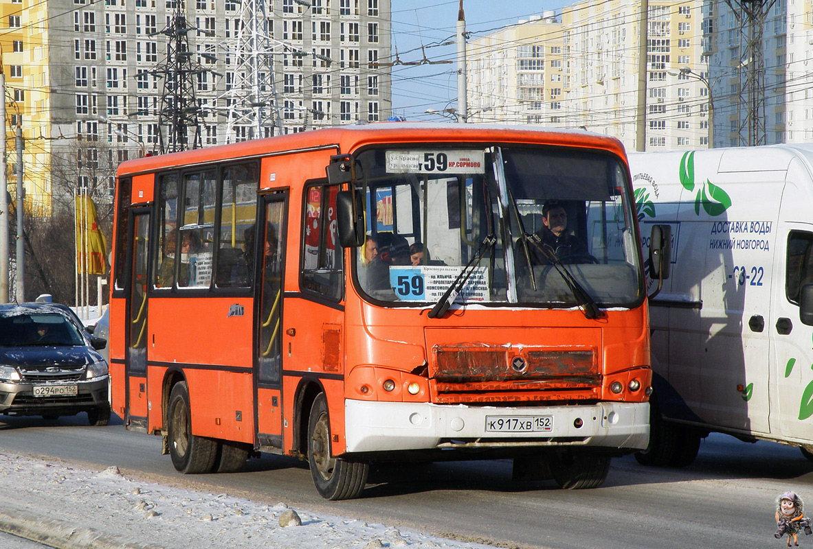
M 437 301 L 457 279 L 463 266 L 389 267 L 389 283 L 400 300 Z M 477 267 L 459 294 L 463 301 L 489 301 L 489 271 Z

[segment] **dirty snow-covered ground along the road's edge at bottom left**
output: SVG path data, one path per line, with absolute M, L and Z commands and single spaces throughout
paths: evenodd
M 54 547 L 118 549 L 473 549 L 488 546 L 141 482 L 111 467 L 0 453 L 0 530 Z M 281 526 L 295 512 L 301 525 Z M 50 540 L 50 541 L 46 541 Z M 61 540 L 61 541 L 60 541 Z M 59 543 L 55 543 L 59 542 Z M 490 549 L 493 549 L 490 548 Z

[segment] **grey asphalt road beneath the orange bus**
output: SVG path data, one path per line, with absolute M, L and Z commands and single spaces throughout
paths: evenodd
M 784 547 L 784 539 L 773 538 L 776 496 L 794 490 L 813 502 L 813 462 L 798 448 L 720 434 L 702 443 L 686 469 L 617 458 L 596 490 L 512 482 L 509 460 L 467 461 L 376 469 L 364 498 L 344 502 L 321 499 L 307 467 L 284 456 L 263 454 L 242 473 L 181 475 L 160 455 L 159 437 L 125 431 L 120 421 L 89 427 L 85 414 L 58 421 L 0 417 L 0 452 L 94 469 L 117 465 L 148 481 L 501 547 Z

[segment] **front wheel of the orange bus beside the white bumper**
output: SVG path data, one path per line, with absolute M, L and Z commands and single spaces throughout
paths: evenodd
M 324 393 L 313 402 L 307 433 L 307 455 L 316 491 L 325 499 L 359 497 L 370 465 L 330 455 L 330 417 Z

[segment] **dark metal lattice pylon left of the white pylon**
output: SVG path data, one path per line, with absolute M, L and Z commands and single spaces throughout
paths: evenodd
M 165 34 L 169 39 L 166 61 L 154 71 L 150 71 L 150 74 L 163 78 L 163 95 L 158 119 L 162 154 L 198 149 L 202 146 L 198 121 L 200 107 L 195 100 L 195 79 L 208 70 L 193 62 L 194 52 L 189 50 L 188 35 L 193 31 L 211 33 L 189 26 L 185 9 L 184 0 L 178 0 L 170 23 L 156 33 Z

